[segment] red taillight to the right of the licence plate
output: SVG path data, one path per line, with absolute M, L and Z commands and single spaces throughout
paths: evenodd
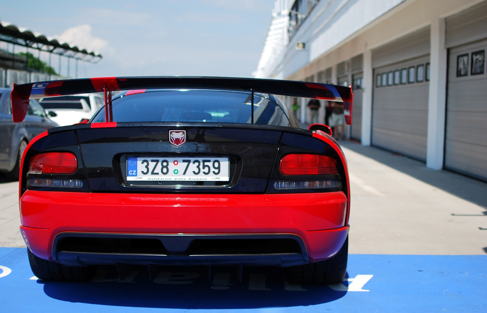
M 338 174 L 337 160 L 330 156 L 290 154 L 281 158 L 279 165 L 284 175 Z

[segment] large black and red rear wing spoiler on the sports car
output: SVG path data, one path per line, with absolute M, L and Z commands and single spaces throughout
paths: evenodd
M 250 91 L 252 95 L 254 92 L 260 92 L 342 102 L 345 122 L 348 125 L 352 123 L 352 87 L 277 79 L 204 76 L 100 77 L 14 84 L 10 93 L 12 115 L 14 122 L 22 122 L 29 107 L 29 99 L 105 92 L 105 104 L 109 107 L 109 110 L 106 110 L 105 121 L 112 122 L 112 91 L 183 88 Z M 253 96 L 251 100 L 253 104 Z

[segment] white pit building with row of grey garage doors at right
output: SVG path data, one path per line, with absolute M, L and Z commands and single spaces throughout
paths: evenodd
M 353 85 L 351 138 L 487 180 L 486 50 L 485 0 L 277 0 L 254 74 Z

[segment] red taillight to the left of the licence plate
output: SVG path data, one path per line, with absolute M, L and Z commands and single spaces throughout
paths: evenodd
M 71 152 L 40 153 L 31 157 L 27 174 L 73 174 L 78 168 Z

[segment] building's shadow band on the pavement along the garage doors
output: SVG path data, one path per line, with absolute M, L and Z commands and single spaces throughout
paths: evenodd
M 408 174 L 431 186 L 450 192 L 460 198 L 487 208 L 487 183 L 447 170 L 435 171 L 424 162 L 376 147 L 362 146 L 354 141 L 340 141 L 340 145 L 363 156 L 370 157 L 393 169 Z M 484 212 L 487 215 L 487 211 Z

